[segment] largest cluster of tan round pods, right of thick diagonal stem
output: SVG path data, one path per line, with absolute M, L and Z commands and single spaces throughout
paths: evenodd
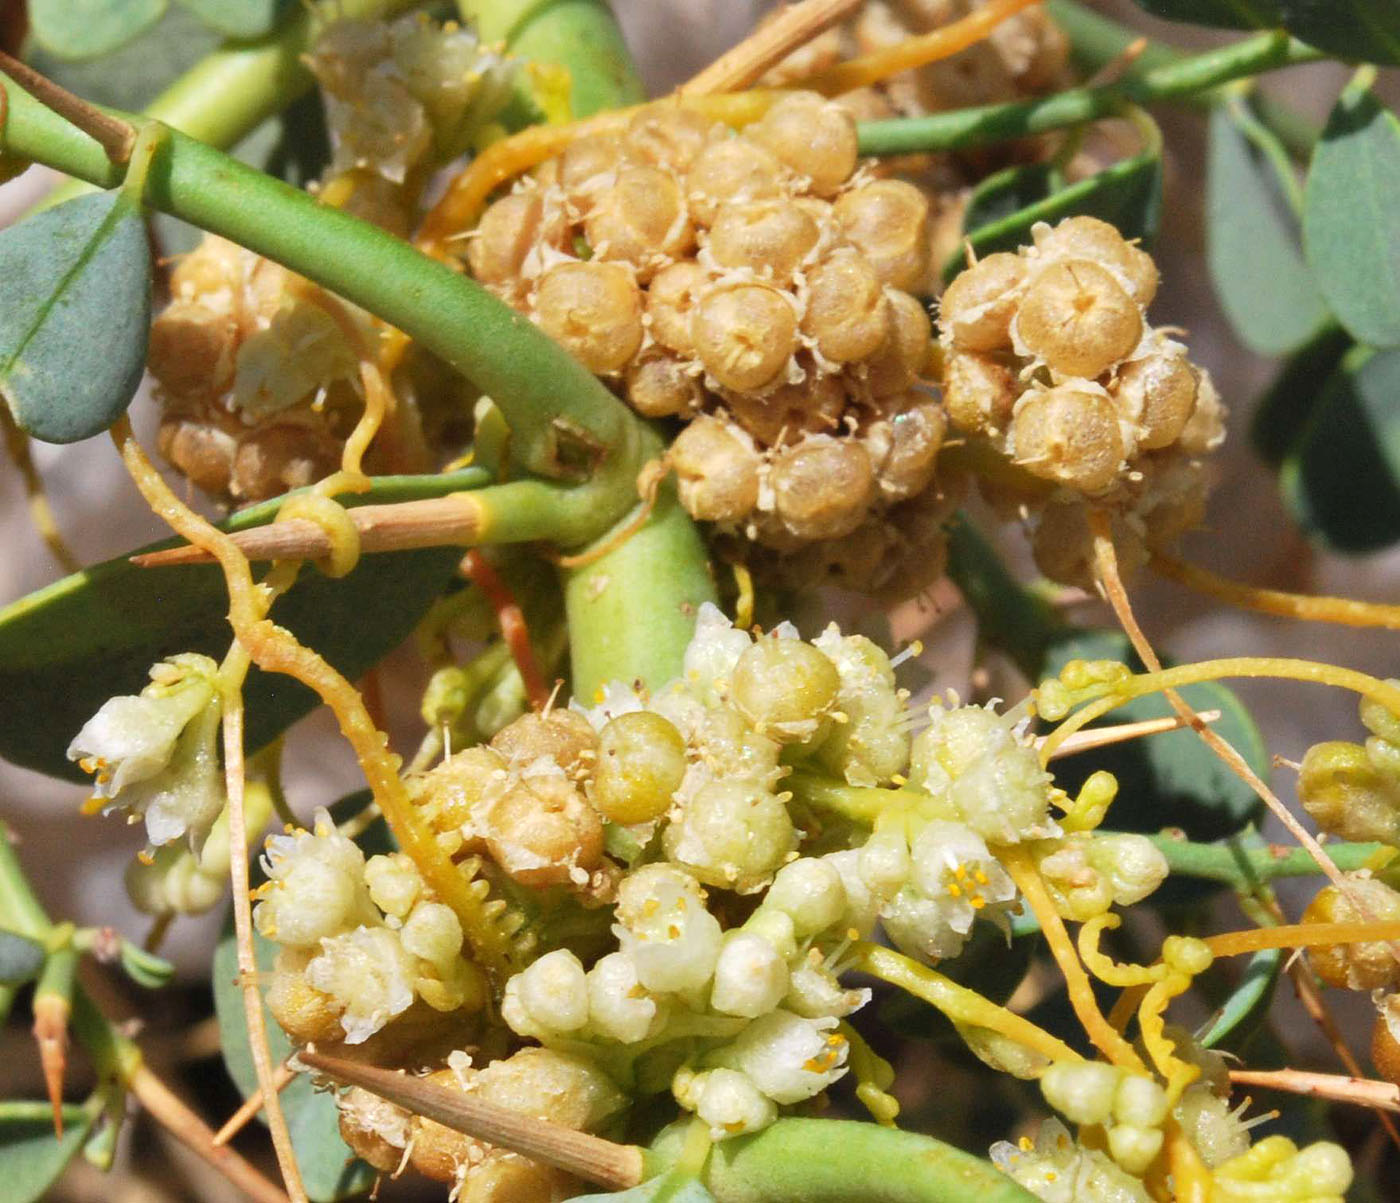
M 850 112 L 812 92 L 739 133 L 652 105 L 522 179 L 466 244 L 638 413 L 687 423 L 690 514 L 778 556 L 932 485 L 928 255 L 924 193 L 857 171 Z

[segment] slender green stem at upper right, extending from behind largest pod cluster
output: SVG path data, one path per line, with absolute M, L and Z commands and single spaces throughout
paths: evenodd
M 1320 50 L 1287 34 L 1256 34 L 1228 46 L 1165 63 L 1103 87 L 1070 88 L 1035 101 L 953 109 L 925 118 L 864 122 L 862 154 L 967 150 L 1117 115 L 1126 101 L 1154 104 L 1198 97 L 1232 80 L 1310 63 Z

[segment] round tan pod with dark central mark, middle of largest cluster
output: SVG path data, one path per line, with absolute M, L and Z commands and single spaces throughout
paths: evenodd
M 797 349 L 797 314 L 763 284 L 711 288 L 690 315 L 696 353 L 724 388 L 773 384 Z

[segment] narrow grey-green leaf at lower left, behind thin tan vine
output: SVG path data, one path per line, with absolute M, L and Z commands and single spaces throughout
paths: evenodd
M 259 972 L 272 972 L 277 945 L 253 933 L 253 954 Z M 253 1069 L 252 1052 L 248 1048 L 244 992 L 238 987 L 238 947 L 231 919 L 214 950 L 213 987 L 224 1064 L 246 1098 L 258 1088 L 258 1071 Z M 263 1017 L 267 1021 L 267 1049 L 276 1064 L 291 1053 L 291 1042 L 266 1007 Z M 375 1178 L 374 1169 L 357 1160 L 340 1139 L 340 1113 L 332 1095 L 312 1090 L 311 1078 L 298 1074 L 281 1092 L 281 1109 L 287 1116 L 307 1195 L 314 1203 L 344 1199 L 371 1186 Z

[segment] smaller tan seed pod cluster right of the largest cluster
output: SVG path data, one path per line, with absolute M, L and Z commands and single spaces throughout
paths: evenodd
M 1224 408 L 1186 347 L 1147 322 L 1147 252 L 1093 217 L 1032 234 L 944 293 L 944 403 L 997 457 L 980 476 L 988 500 L 1033 515 L 1042 571 L 1092 585 L 1092 510 L 1110 515 L 1124 570 L 1200 522 L 1201 457 L 1224 438 Z

